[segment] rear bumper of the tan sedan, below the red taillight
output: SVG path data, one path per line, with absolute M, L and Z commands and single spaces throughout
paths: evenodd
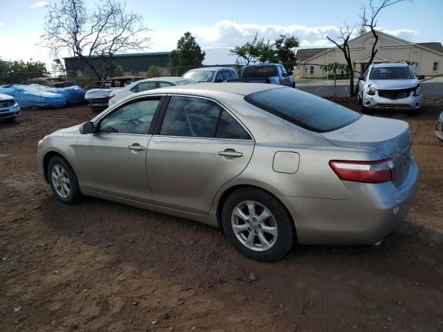
M 280 196 L 296 224 L 301 244 L 373 244 L 392 232 L 413 203 L 418 185 L 415 160 L 399 187 L 392 183 L 344 182 L 351 199 Z

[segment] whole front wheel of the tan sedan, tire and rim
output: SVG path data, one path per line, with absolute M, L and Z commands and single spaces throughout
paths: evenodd
M 78 185 L 77 176 L 62 156 L 55 156 L 49 160 L 46 169 L 48 181 L 53 193 L 66 204 L 75 204 L 80 201 L 82 192 Z

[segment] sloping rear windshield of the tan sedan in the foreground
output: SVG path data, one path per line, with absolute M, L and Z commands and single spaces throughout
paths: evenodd
M 324 133 L 343 128 L 360 115 L 334 102 L 291 88 L 270 89 L 246 95 L 246 102 L 298 126 Z

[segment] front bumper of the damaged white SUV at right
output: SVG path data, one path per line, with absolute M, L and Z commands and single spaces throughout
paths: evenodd
M 416 111 L 422 107 L 422 95 L 413 95 L 399 99 L 389 99 L 380 97 L 378 92 L 375 95 L 368 95 L 365 91 L 362 93 L 362 104 L 367 109 L 392 109 L 395 111 Z

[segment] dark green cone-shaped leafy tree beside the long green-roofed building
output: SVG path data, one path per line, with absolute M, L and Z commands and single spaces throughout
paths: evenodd
M 177 48 L 169 55 L 171 67 L 201 66 L 206 53 L 188 31 L 177 42 Z M 179 70 L 184 71 L 185 69 Z M 178 72 L 177 72 L 178 75 Z

